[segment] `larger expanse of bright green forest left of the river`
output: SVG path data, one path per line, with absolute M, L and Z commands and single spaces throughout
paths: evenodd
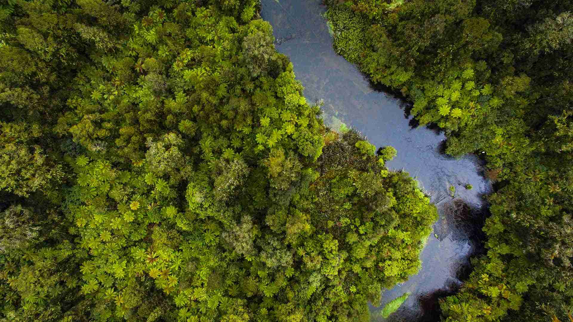
M 417 272 L 429 197 L 259 10 L 0 2 L 0 321 L 367 321 Z

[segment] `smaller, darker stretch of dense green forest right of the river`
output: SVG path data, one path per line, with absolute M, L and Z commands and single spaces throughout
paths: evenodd
M 573 321 L 573 3 L 325 1 L 337 53 L 476 152 L 496 182 L 445 321 Z

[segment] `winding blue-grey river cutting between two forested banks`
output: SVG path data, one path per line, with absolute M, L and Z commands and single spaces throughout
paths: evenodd
M 262 0 L 262 18 L 273 25 L 276 48 L 291 58 L 309 101 L 324 99 L 325 123 L 345 123 L 377 147 L 391 145 L 398 156 L 387 165 L 404 168 L 431 194 L 440 218 L 422 251 L 422 269 L 407 282 L 386 290 L 379 308 L 411 292 L 391 321 L 437 320 L 437 297 L 452 292 L 468 270 L 468 258 L 481 249 L 484 202 L 492 190 L 482 162 L 474 155 L 453 159 L 441 154 L 445 137 L 428 128 L 411 128 L 403 101 L 378 91 L 367 78 L 332 49 L 321 0 Z M 466 190 L 466 184 L 473 190 Z M 460 216 L 452 208 L 448 187 L 472 207 Z

